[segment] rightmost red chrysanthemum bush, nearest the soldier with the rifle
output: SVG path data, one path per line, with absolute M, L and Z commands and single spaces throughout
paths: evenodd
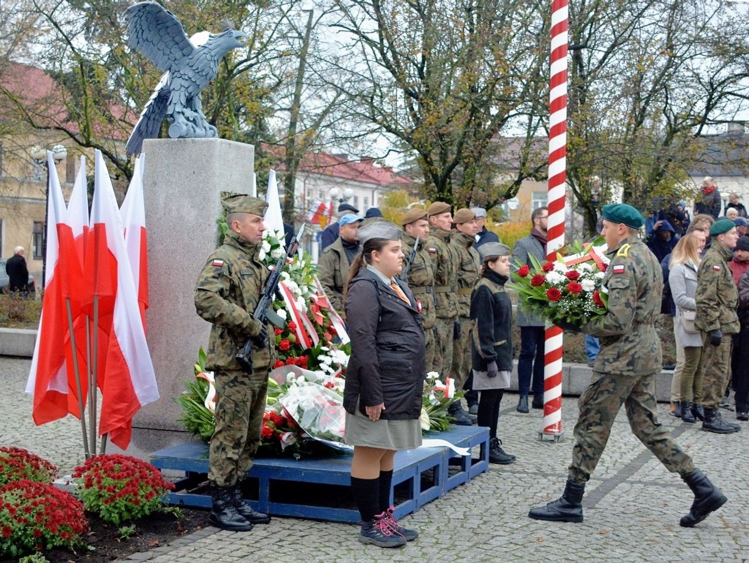
M 118 526 L 164 508 L 175 488 L 158 469 L 137 457 L 97 455 L 73 470 L 85 509 Z

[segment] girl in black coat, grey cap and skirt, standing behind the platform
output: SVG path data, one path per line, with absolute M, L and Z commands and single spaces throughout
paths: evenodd
M 482 278 L 470 296 L 473 389 L 481 392 L 479 426 L 489 427 L 489 461 L 506 465 L 515 461 L 515 456 L 502 449 L 497 422 L 512 372 L 512 302 L 505 291 L 510 249 L 500 243 L 488 243 L 479 246 L 479 254 L 484 266 Z

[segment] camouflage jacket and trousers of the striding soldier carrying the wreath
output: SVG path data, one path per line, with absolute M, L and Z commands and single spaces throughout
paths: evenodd
M 691 457 L 657 422 L 655 406 L 661 341 L 653 320 L 661 310 L 661 265 L 638 237 L 622 241 L 608 256 L 611 262 L 603 285 L 608 290 L 609 310 L 582 327 L 583 332 L 601 339 L 601 351 L 592 381 L 578 401 L 580 416 L 574 427 L 569 480 L 583 484 L 589 479 L 622 403 L 634 435 L 670 472 L 685 476 L 694 470 Z

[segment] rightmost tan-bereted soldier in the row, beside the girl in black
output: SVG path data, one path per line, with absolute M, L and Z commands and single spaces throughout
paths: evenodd
M 458 268 L 458 317 L 457 322 L 460 326 L 458 335 L 455 338 L 455 346 L 452 349 L 452 367 L 450 368 L 450 377 L 455 380 L 455 390 L 465 389 L 465 384 L 471 371 L 471 353 L 470 353 L 470 294 L 473 287 L 481 279 L 481 257 L 479 251 L 473 246 L 476 242 L 476 233 L 479 228 L 476 225 L 476 214 L 470 209 L 459 209 L 452 216 L 452 222 L 455 223 L 455 231 L 450 236 L 450 244 L 455 248 L 455 252 L 460 257 L 460 266 Z M 470 388 L 469 388 L 470 389 Z M 452 407 L 452 406 L 451 406 Z M 472 424 L 473 417 L 467 415 L 461 404 L 456 403 L 455 417 L 456 424 Z M 460 413 L 458 413 L 460 410 Z M 477 411 L 478 412 L 478 411 Z M 478 418 L 478 417 L 476 417 Z

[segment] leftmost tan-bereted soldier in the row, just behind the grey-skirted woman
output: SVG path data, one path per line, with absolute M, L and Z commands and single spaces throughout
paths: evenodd
M 402 223 L 403 237 L 401 237 L 401 243 L 403 244 L 404 261 L 408 261 L 416 238 L 419 239 L 416 255 L 413 256 L 413 261 L 408 268 L 406 282 L 416 298 L 416 305 L 421 311 L 426 347 L 426 371 L 437 371 L 434 367 L 434 267 L 429 249 L 425 244 L 429 235 L 429 221 L 426 211 L 412 209 L 403 216 Z

